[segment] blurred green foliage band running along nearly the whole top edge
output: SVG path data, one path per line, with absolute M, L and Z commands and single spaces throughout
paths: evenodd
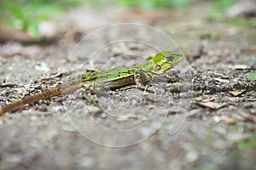
M 140 8 L 151 10 L 154 8 L 186 9 L 191 3 L 210 2 L 208 16 L 223 12 L 236 0 L 1 0 L 0 23 L 15 27 L 23 31 L 30 31 L 38 36 L 38 25 L 44 20 L 55 19 L 58 14 L 68 8 L 79 5 L 92 5 L 104 8 L 106 5 L 124 8 Z

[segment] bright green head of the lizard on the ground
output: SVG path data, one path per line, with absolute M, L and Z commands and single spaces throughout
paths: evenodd
M 170 51 L 163 51 L 159 54 L 154 55 L 152 59 L 155 68 L 155 74 L 162 74 L 168 70 L 170 70 L 173 66 L 177 65 L 179 61 L 183 59 L 183 54 L 177 54 Z

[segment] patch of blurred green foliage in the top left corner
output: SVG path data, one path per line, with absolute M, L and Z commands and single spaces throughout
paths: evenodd
M 38 25 L 43 20 L 55 18 L 82 0 L 2 0 L 0 2 L 0 22 L 5 26 L 23 31 L 31 31 L 38 36 Z

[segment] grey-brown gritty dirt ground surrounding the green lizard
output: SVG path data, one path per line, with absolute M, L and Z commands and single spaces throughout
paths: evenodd
M 107 91 L 108 97 L 124 99 L 117 108 L 113 103 L 109 106 L 108 97 L 92 95 L 101 99 L 99 109 L 80 90 L 2 116 L 0 169 L 253 169 L 256 83 L 244 75 L 256 71 L 256 20 L 207 20 L 204 10 L 195 6 L 182 12 L 143 13 L 78 8 L 56 21 L 65 28 L 56 41 L 2 44 L 0 77 L 5 82 L 1 82 L 0 105 L 55 85 L 84 67 L 135 65 L 155 52 L 144 44 L 120 42 L 91 59 L 96 48 L 126 33 L 159 40 L 143 29 L 135 32 L 127 27 L 122 35 L 118 29 L 106 31 L 77 45 L 103 26 L 124 22 L 153 26 L 172 37 L 186 59 L 167 73 L 164 93 L 142 96 L 136 87 Z M 172 82 L 173 71 L 185 81 Z M 139 108 L 137 115 L 126 116 L 134 108 Z M 148 124 L 132 134 L 113 134 L 90 126 L 91 120 L 119 130 Z M 171 125 L 177 132 L 170 131 Z

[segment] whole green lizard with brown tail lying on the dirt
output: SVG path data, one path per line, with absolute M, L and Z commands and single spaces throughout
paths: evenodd
M 3 116 L 4 113 L 14 111 L 23 105 L 31 104 L 41 99 L 49 99 L 61 94 L 69 94 L 79 88 L 93 90 L 96 85 L 100 85 L 104 89 L 113 89 L 132 84 L 136 84 L 138 88 L 145 88 L 145 84 L 153 77 L 162 75 L 177 65 L 182 59 L 182 54 L 163 51 L 139 65 L 84 73 L 54 88 L 44 89 L 42 92 L 27 95 L 9 105 L 3 106 L 0 108 L 0 116 Z

